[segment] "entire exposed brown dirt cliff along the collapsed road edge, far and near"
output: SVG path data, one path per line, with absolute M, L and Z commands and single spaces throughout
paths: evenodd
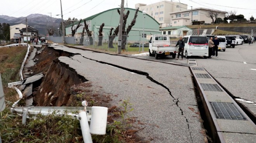
M 69 56 L 69 53 L 44 47 L 35 66 L 28 68 L 30 76 L 43 73 L 42 83 L 33 89 L 34 106 L 69 106 L 74 100 L 70 87 L 87 80 L 78 75 L 73 69 L 61 63 L 59 56 Z

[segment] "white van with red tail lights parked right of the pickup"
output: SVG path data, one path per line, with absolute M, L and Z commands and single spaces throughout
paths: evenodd
M 183 54 L 186 58 L 189 58 L 190 56 L 204 56 L 206 59 L 208 57 L 209 47 L 206 36 L 184 36 L 183 41 L 185 43 Z

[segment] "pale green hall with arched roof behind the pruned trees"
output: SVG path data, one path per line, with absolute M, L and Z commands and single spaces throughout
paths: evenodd
M 81 32 L 83 31 L 83 27 L 84 27 L 84 23 L 83 23 L 84 20 L 86 20 L 86 24 L 88 24 L 88 29 L 92 31 L 93 36 L 99 35 L 99 27 L 102 23 L 104 23 L 105 26 L 103 27 L 103 35 L 108 36 L 111 27 L 115 29 L 119 24 L 120 15 L 118 14 L 118 11 L 117 11 L 118 9 L 120 8 L 106 10 L 104 12 L 100 12 L 98 14 L 95 14 L 83 19 L 81 22 L 82 26 L 78 28 L 75 36 L 76 37 L 81 36 Z M 130 11 L 130 14 L 126 22 L 126 27 L 130 25 L 131 20 L 134 18 L 136 9 L 125 8 L 124 14 L 126 14 L 128 10 Z M 145 14 L 145 19 L 143 18 L 144 18 L 144 15 L 142 14 L 142 11 L 138 11 L 136 23 L 132 27 L 130 33 L 128 34 L 130 40 L 138 39 L 138 36 L 142 35 L 143 26 L 144 26 L 144 33 L 147 35 L 161 34 L 161 31 L 159 31 L 159 23 L 155 19 L 153 19 L 148 14 Z M 75 27 L 77 24 L 78 22 L 74 22 Z M 66 27 L 66 35 L 69 37 L 71 37 L 71 27 L 72 27 L 72 24 Z

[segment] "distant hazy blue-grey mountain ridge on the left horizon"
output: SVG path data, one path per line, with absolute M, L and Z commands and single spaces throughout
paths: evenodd
M 50 17 L 43 14 L 30 14 L 27 16 L 28 26 L 31 26 L 39 31 L 39 35 L 45 36 L 47 34 L 47 27 L 60 27 L 61 19 Z M 9 23 L 10 26 L 16 24 L 26 24 L 26 17 L 10 17 L 7 15 L 0 15 L 0 23 Z M 56 32 L 57 33 L 57 32 Z

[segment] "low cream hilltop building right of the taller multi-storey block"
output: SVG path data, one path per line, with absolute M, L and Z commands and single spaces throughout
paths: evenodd
M 192 25 L 192 21 L 204 21 L 204 23 L 211 24 L 212 19 L 209 17 L 209 12 L 218 13 L 217 18 L 223 19 L 227 12 L 206 8 L 196 8 L 170 12 L 171 26 L 187 26 Z M 192 17 L 191 17 L 192 14 Z M 192 21 L 191 21 L 192 18 Z M 215 17 L 213 18 L 215 20 Z

